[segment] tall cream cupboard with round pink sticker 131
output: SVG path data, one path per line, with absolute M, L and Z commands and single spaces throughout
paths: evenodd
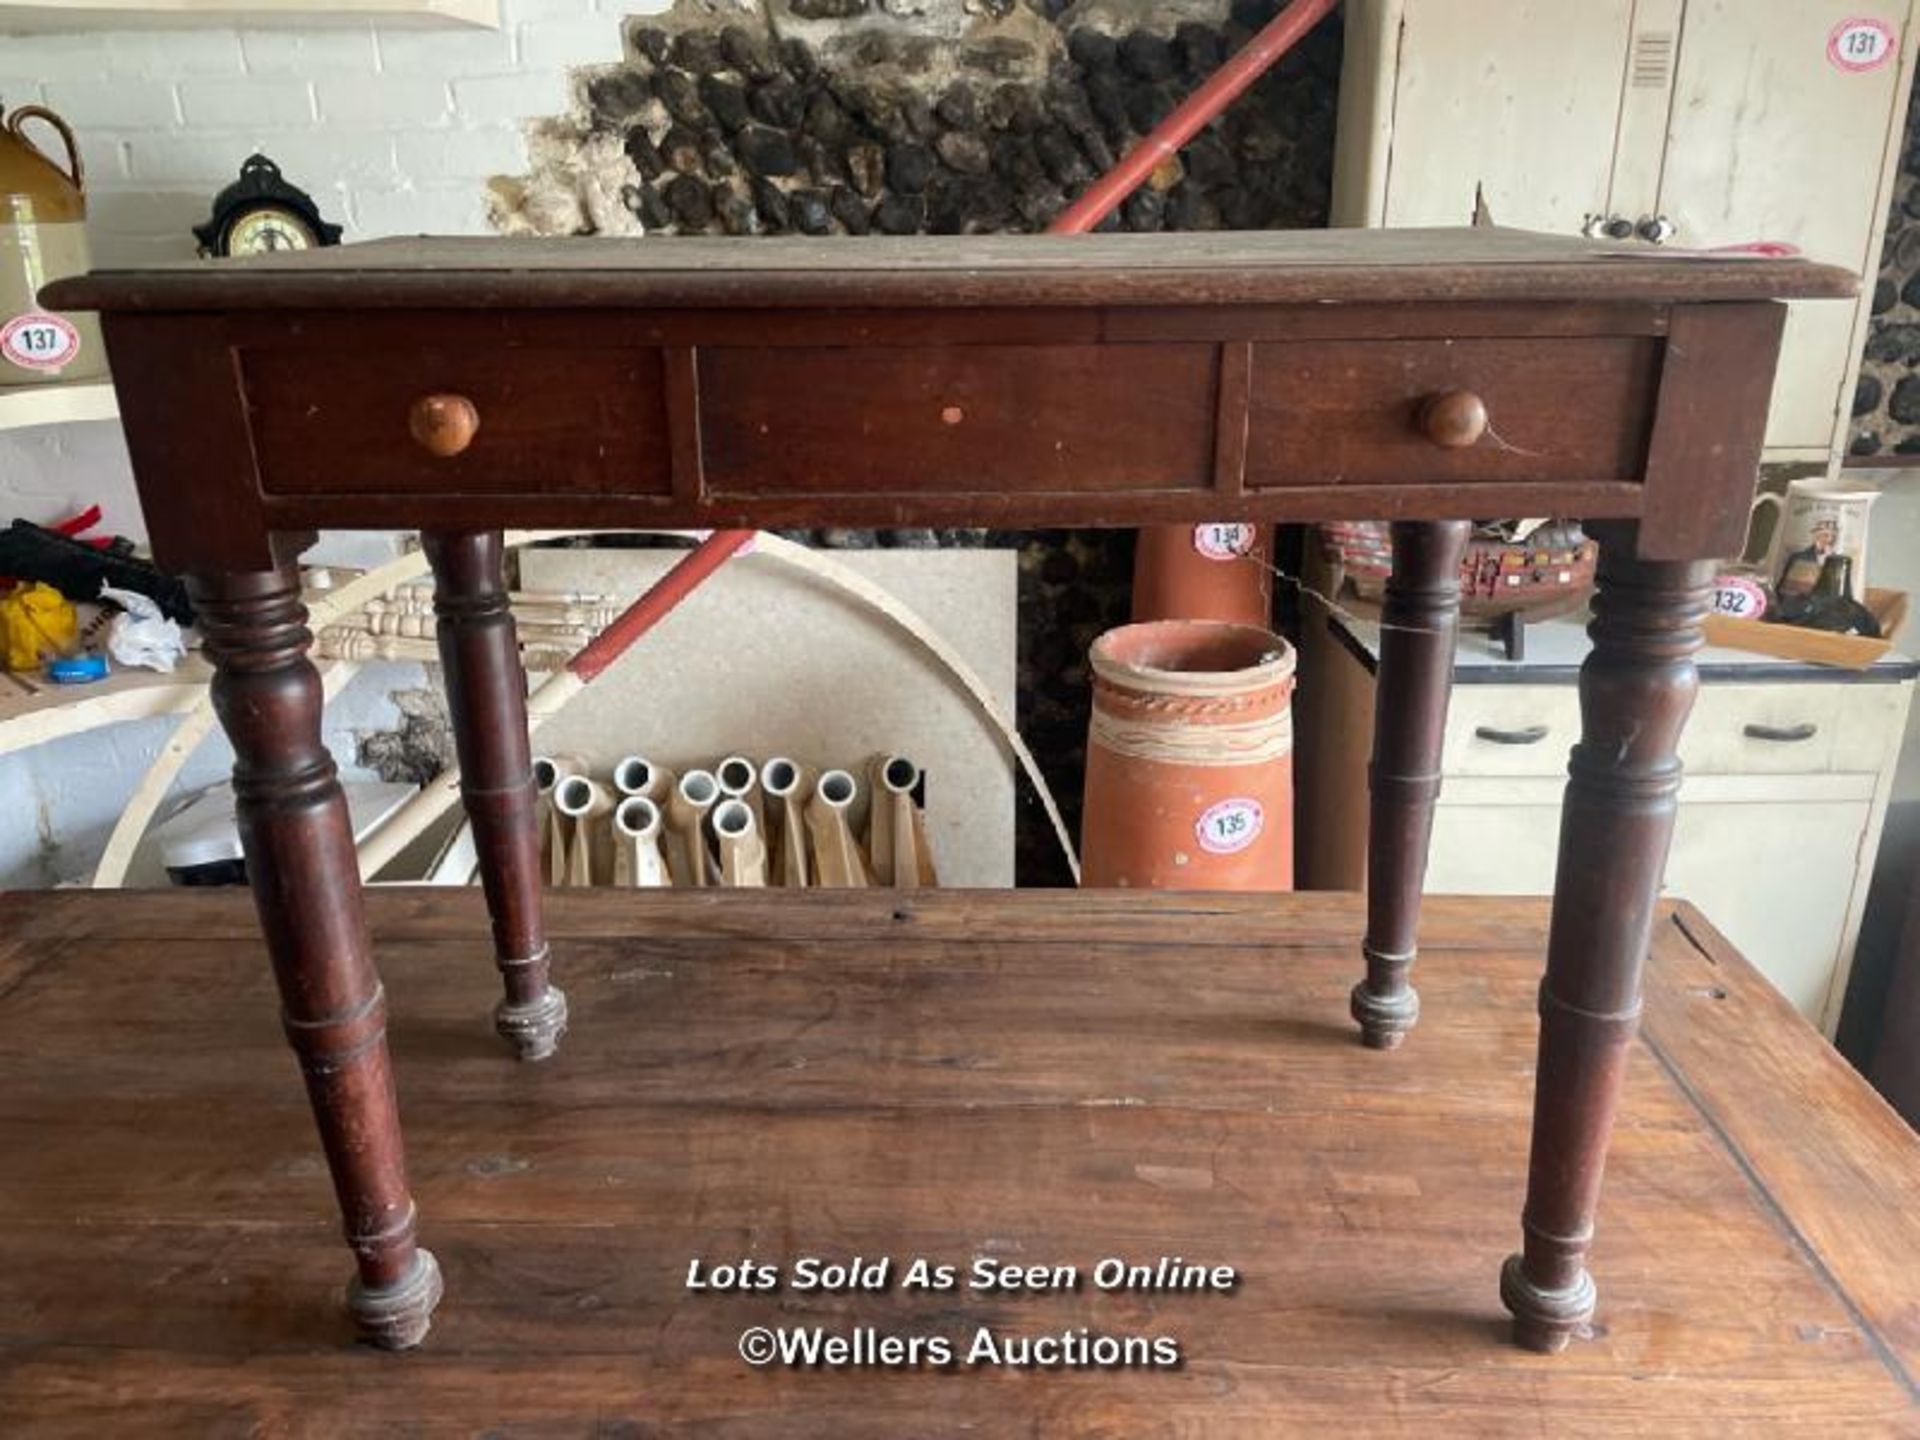
M 1332 223 L 1461 225 L 1478 188 L 1500 225 L 1784 240 L 1872 276 L 1914 13 L 1914 0 L 1348 0 Z M 1837 463 L 1870 290 L 1789 309 L 1768 463 Z

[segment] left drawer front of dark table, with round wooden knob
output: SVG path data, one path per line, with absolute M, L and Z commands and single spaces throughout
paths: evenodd
M 240 349 L 267 495 L 670 495 L 660 351 L 628 346 Z M 457 394 L 480 428 L 459 455 L 407 432 L 413 401 Z

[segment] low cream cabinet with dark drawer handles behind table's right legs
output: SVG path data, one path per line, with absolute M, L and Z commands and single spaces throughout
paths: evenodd
M 1334 851 L 1315 854 L 1311 883 L 1357 887 L 1377 634 L 1321 612 L 1308 624 L 1329 626 L 1334 643 L 1296 753 L 1300 849 Z M 1586 645 L 1572 620 L 1530 626 L 1519 664 L 1486 636 L 1461 637 L 1430 895 L 1551 895 Z M 1697 904 L 1832 1035 L 1920 666 L 1889 657 L 1855 674 L 1709 647 L 1699 670 L 1667 893 Z

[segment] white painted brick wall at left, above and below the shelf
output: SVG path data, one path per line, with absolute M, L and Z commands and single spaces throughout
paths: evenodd
M 192 255 L 188 227 L 263 150 L 349 240 L 480 232 L 493 175 L 526 169 L 526 121 L 568 102 L 566 71 L 620 58 L 620 17 L 664 0 L 501 0 L 497 31 L 340 23 L 315 29 L 165 29 L 0 36 L 0 100 L 52 104 L 79 131 L 94 259 Z M 0 432 L 0 520 L 54 520 L 86 503 L 142 536 L 127 447 L 113 424 Z M 372 563 L 374 538 L 326 536 L 319 555 Z M 378 670 L 386 672 L 386 666 Z M 417 670 L 413 680 L 419 684 Z M 351 772 L 346 730 L 392 724 L 392 674 L 363 676 L 357 705 L 330 707 L 328 737 Z M 106 829 L 167 732 L 79 735 L 0 758 L 0 885 L 86 874 Z M 221 745 L 188 774 L 225 772 Z

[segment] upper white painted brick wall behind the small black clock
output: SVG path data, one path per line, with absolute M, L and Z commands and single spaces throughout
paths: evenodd
M 524 125 L 566 73 L 620 60 L 620 19 L 664 0 L 501 0 L 493 31 L 342 23 L 0 40 L 0 100 L 81 132 L 102 263 L 192 253 L 186 223 L 253 150 L 348 238 L 486 225 L 488 179 L 526 169 Z M 6 490 L 0 442 L 0 495 Z

